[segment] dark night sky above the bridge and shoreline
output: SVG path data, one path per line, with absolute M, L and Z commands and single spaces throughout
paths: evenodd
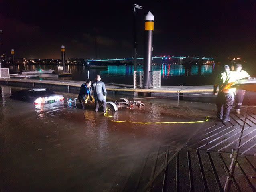
M 155 16 L 153 55 L 236 57 L 256 60 L 255 0 L 0 1 L 0 54 L 86 59 L 132 57 L 134 3 L 138 56 L 143 57 L 144 16 Z M 96 44 L 95 44 L 96 39 Z

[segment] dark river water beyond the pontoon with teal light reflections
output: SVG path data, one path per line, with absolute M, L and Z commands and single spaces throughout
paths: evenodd
M 88 69 L 84 65 L 67 65 L 69 71 L 72 73 L 71 77 L 61 77 L 61 80 L 76 80 L 76 81 L 86 81 L 87 79 L 94 80 L 95 76 L 100 74 L 102 76 L 102 81 L 106 83 L 124 83 L 132 84 L 134 66 L 132 65 L 109 65 L 108 69 Z M 20 70 L 35 71 L 38 69 L 54 69 L 57 71 L 57 65 L 28 65 L 22 64 L 19 66 Z M 190 77 L 197 76 L 200 77 L 200 81 L 204 82 L 206 76 L 212 75 L 214 65 L 210 64 L 161 64 L 152 65 L 152 71 L 161 71 L 161 79 L 167 80 L 171 77 Z M 143 65 L 137 66 L 137 71 L 143 71 Z M 53 77 L 41 77 L 43 79 L 52 79 Z M 56 77 L 58 78 L 58 77 Z M 176 82 L 179 84 L 184 84 L 184 79 L 178 78 Z M 163 81 L 162 85 L 172 85 L 171 81 Z M 182 82 L 182 83 L 181 83 Z M 186 83 L 186 82 L 185 82 Z M 197 82 L 192 82 L 197 85 Z

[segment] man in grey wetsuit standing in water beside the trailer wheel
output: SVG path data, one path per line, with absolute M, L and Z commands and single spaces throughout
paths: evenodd
M 102 107 L 103 107 L 103 112 L 106 113 L 106 96 L 107 96 L 107 91 L 105 88 L 105 83 L 103 83 L 102 81 L 100 81 L 100 75 L 96 76 L 96 82 L 93 82 L 92 86 L 91 86 L 91 91 L 90 91 L 90 95 L 94 94 L 94 98 L 95 98 L 95 111 L 97 112 L 99 109 L 99 103 L 101 103 Z

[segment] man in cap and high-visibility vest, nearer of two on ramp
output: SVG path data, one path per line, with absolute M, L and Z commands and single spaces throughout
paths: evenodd
M 224 71 L 220 73 L 215 81 L 214 94 L 217 95 L 216 105 L 218 108 L 217 117 L 223 122 L 230 121 L 230 110 L 234 103 L 234 95 L 236 88 L 230 88 L 236 83 L 237 73 L 230 71 L 228 65 L 224 66 Z M 219 92 L 217 87 L 219 86 Z

